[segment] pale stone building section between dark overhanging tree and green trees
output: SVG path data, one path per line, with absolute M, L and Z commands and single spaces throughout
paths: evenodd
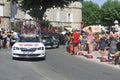
M 74 2 L 64 9 L 48 9 L 45 14 L 46 19 L 51 21 L 55 27 L 80 29 L 82 21 L 82 4 L 80 2 Z

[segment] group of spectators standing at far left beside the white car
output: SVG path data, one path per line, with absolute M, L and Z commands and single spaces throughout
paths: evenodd
M 19 34 L 16 31 L 0 28 L 0 48 L 10 49 L 18 39 Z

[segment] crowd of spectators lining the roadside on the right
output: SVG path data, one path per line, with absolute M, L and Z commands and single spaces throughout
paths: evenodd
M 101 54 L 101 59 L 105 59 L 108 52 L 107 59 L 110 63 L 115 63 L 115 55 L 120 57 L 120 33 L 115 28 L 112 28 L 108 34 L 106 31 L 93 33 L 89 27 L 85 34 L 83 35 L 77 30 L 66 34 L 67 51 L 71 55 L 78 55 L 78 51 L 87 51 L 87 56 L 93 56 L 93 51 L 97 50 Z

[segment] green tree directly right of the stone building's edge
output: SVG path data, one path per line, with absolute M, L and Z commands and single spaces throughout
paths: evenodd
M 92 1 L 83 2 L 82 20 L 85 26 L 100 23 L 100 7 Z

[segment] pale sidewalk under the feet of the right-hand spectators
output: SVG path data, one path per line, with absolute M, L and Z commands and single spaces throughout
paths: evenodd
M 81 51 L 79 51 L 81 52 Z M 93 62 L 96 62 L 98 64 L 101 64 L 101 65 L 105 65 L 105 66 L 109 66 L 109 67 L 112 67 L 112 68 L 116 68 L 116 69 L 120 69 L 120 66 L 118 65 L 114 65 L 114 64 L 111 64 L 109 62 L 101 62 L 100 61 L 100 53 L 99 51 L 93 51 L 93 58 L 92 59 L 88 59 L 85 55 L 87 55 L 87 51 L 82 51 L 83 52 L 83 55 L 75 55 L 75 57 L 79 57 L 79 58 L 82 58 L 82 59 L 85 59 L 85 60 L 89 60 L 89 61 L 93 61 Z M 107 52 L 108 54 L 108 52 Z M 106 54 L 106 58 L 107 58 L 107 54 Z

